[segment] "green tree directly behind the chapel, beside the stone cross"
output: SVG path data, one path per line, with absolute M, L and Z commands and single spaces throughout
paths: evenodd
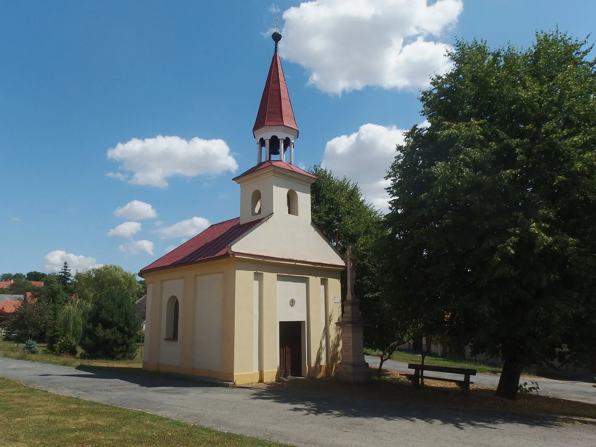
M 348 245 L 356 254 L 354 265 L 355 293 L 360 302 L 365 344 L 385 349 L 400 338 L 403 325 L 392 310 L 392 301 L 382 293 L 378 281 L 378 241 L 383 235 L 383 215 L 367 203 L 358 184 L 346 177 L 339 178 L 320 165 L 309 172 L 318 179 L 311 187 L 312 222 L 330 243 L 339 242 L 342 256 Z M 342 292 L 345 296 L 346 277 L 342 276 Z

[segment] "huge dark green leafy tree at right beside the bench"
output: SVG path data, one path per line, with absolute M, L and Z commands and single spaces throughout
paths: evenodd
M 423 92 L 430 125 L 398 147 L 390 293 L 408 318 L 525 365 L 578 361 L 596 330 L 596 64 L 541 32 L 528 49 L 460 41 Z M 567 352 L 560 348 L 566 344 Z

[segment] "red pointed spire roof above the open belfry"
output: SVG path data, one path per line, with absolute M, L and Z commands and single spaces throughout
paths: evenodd
M 281 69 L 280 55 L 275 52 L 269 68 L 267 82 L 265 82 L 259 113 L 257 113 L 257 119 L 254 122 L 253 135 L 254 131 L 263 126 L 278 125 L 298 130 L 290 102 L 290 94 L 288 94 L 288 88 L 285 85 L 284 72 Z

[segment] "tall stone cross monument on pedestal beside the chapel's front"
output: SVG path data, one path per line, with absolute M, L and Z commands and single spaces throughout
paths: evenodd
M 342 382 L 361 383 L 371 380 L 368 363 L 364 361 L 364 322 L 354 296 L 354 259 L 352 246 L 347 247 L 347 293 L 343 302 L 342 321 L 336 324 L 342 328 L 342 362 L 337 367 L 337 378 Z

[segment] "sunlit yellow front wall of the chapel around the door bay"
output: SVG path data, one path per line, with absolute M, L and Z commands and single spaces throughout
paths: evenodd
M 236 264 L 234 381 L 251 383 L 279 378 L 278 275 L 306 278 L 306 373 L 335 374 L 340 362 L 342 315 L 340 269 L 291 262 L 238 260 Z M 321 296 L 321 285 L 324 294 Z M 326 335 L 328 334 L 328 336 Z

